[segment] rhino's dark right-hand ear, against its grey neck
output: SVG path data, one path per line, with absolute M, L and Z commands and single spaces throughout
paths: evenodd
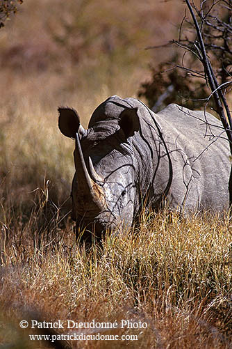
M 140 119 L 138 117 L 138 108 L 126 108 L 120 114 L 119 126 L 122 128 L 126 138 L 140 130 Z

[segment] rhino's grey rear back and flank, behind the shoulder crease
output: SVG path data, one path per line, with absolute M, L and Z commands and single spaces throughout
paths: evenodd
M 190 185 L 188 201 L 198 196 L 197 208 L 227 209 L 229 142 L 222 123 L 204 111 L 192 111 L 176 104 L 163 109 L 158 113 L 158 118 L 170 147 L 181 149 L 182 153 L 176 154 L 183 157 L 185 153 L 185 162 L 190 164 L 192 186 Z M 185 180 L 185 186 L 187 185 Z M 178 187 L 176 185 L 176 190 Z

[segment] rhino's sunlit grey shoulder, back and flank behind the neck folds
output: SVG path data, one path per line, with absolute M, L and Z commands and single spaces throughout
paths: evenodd
M 173 171 L 167 195 L 169 205 L 178 209 L 184 207 L 185 211 L 228 209 L 230 153 L 222 123 L 204 111 L 192 111 L 177 104 L 169 104 L 155 114 L 138 100 L 129 98 L 126 102 L 140 111 L 141 132 L 133 141 L 142 151 L 149 142 L 150 153 L 160 152 L 161 155 L 158 155 L 158 167 L 156 163 L 152 166 L 154 155 L 149 157 L 147 150 L 143 157 L 151 171 L 156 172 L 152 189 L 155 206 L 160 200 L 160 190 L 167 188 L 171 176 L 167 156 L 161 154 L 166 148 L 160 150 L 161 143 L 165 143 Z M 158 140 L 158 128 L 162 141 Z

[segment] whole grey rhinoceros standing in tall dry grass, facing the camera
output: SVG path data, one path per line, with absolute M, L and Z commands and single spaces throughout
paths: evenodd
M 58 111 L 60 131 L 76 144 L 77 229 L 124 231 L 143 205 L 185 214 L 229 208 L 229 144 L 215 116 L 177 104 L 155 114 L 140 100 L 113 95 L 85 130 L 74 109 Z

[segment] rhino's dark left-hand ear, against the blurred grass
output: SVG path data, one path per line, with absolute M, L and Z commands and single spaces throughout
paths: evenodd
M 80 118 L 75 109 L 70 108 L 58 108 L 59 121 L 58 126 L 60 132 L 62 132 L 66 137 L 71 137 L 76 139 L 76 132 L 83 136 L 86 130 L 81 126 Z

